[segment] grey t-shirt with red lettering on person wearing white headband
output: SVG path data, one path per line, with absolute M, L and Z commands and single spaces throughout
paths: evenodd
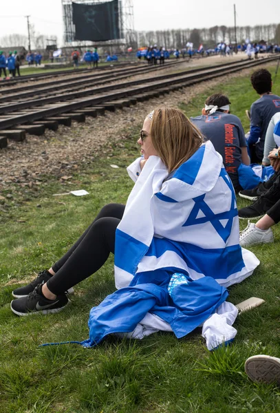
M 233 186 L 239 186 L 237 169 L 241 164 L 241 147 L 246 147 L 246 138 L 237 116 L 215 112 L 191 118 L 191 122 L 202 131 L 205 140 L 211 140 L 215 150 L 223 157 L 224 167 Z

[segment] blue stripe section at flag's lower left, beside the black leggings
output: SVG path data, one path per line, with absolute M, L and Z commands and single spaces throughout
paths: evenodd
M 116 229 L 115 265 L 127 273 L 136 273 L 139 262 L 144 257 L 148 246 L 127 233 Z

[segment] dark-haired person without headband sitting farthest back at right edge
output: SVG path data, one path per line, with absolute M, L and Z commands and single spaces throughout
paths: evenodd
M 248 147 L 251 162 L 261 162 L 268 124 L 272 116 L 280 112 L 280 96 L 272 94 L 272 78 L 266 69 L 256 70 L 251 76 L 251 83 L 260 98 L 250 108 Z

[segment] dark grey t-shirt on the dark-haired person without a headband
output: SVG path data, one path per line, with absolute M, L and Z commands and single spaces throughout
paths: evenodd
M 259 142 L 256 143 L 256 153 L 261 159 L 263 157 L 264 141 L 266 130 L 274 114 L 280 112 L 280 96 L 274 94 L 265 94 L 252 103 L 251 109 L 251 127 L 258 126 L 261 128 Z

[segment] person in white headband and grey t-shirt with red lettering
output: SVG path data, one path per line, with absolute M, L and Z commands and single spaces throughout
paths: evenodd
M 191 118 L 206 140 L 211 140 L 223 157 L 224 166 L 235 191 L 241 189 L 238 168 L 241 163 L 250 165 L 246 138 L 241 121 L 230 114 L 230 101 L 223 94 L 213 94 L 206 99 L 202 115 Z

